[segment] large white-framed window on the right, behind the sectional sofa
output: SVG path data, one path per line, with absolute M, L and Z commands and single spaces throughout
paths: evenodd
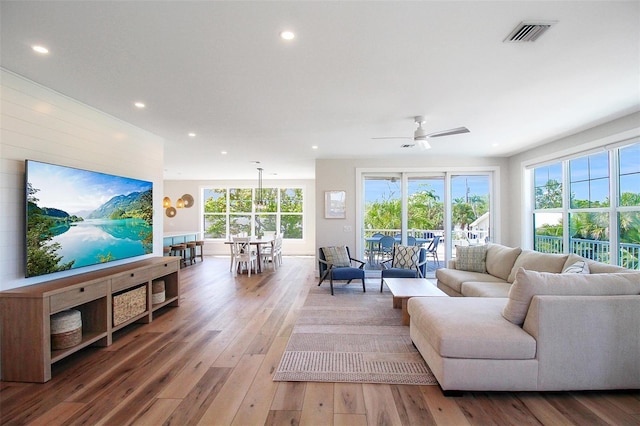
M 533 182 L 534 250 L 639 268 L 640 144 L 537 167 Z

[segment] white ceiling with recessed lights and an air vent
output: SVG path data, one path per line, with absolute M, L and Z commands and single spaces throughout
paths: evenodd
M 638 1 L 0 7 L 0 65 L 165 138 L 165 179 L 255 179 L 251 160 L 265 179 L 312 179 L 316 158 L 509 156 L 640 110 Z M 537 42 L 503 42 L 540 19 L 557 24 Z M 371 139 L 411 136 L 415 115 L 471 133 L 430 151 Z

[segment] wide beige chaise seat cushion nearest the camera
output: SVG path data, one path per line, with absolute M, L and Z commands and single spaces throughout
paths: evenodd
M 471 359 L 533 359 L 535 339 L 506 321 L 507 299 L 478 297 L 412 297 L 411 327 L 442 357 Z

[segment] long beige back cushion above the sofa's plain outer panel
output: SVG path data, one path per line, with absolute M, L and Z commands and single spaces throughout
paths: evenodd
M 553 274 L 518 269 L 502 315 L 521 325 L 536 295 L 607 296 L 640 294 L 640 272 L 610 274 Z

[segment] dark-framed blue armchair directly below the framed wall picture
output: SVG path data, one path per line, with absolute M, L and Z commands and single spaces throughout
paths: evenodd
M 354 263 L 360 264 L 360 266 L 354 267 Z M 362 291 L 366 292 L 364 265 L 365 262 L 351 257 L 347 246 L 320 247 L 318 249 L 318 270 L 320 271 L 318 285 L 329 277 L 331 295 L 333 296 L 333 280 L 347 281 L 347 284 L 352 280 L 362 280 Z

